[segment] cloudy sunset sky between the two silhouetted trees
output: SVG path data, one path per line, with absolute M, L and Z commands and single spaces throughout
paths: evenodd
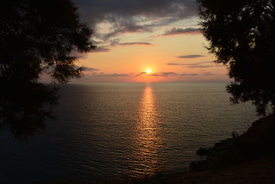
M 94 30 L 78 82 L 227 82 L 199 31 L 192 0 L 74 0 Z M 147 73 L 147 70 L 151 70 Z

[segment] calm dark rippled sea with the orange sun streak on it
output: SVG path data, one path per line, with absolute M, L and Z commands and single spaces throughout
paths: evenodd
M 244 132 L 254 107 L 230 105 L 225 83 L 83 83 L 61 88 L 56 120 L 27 142 L 0 134 L 0 183 L 102 181 L 184 170 Z

